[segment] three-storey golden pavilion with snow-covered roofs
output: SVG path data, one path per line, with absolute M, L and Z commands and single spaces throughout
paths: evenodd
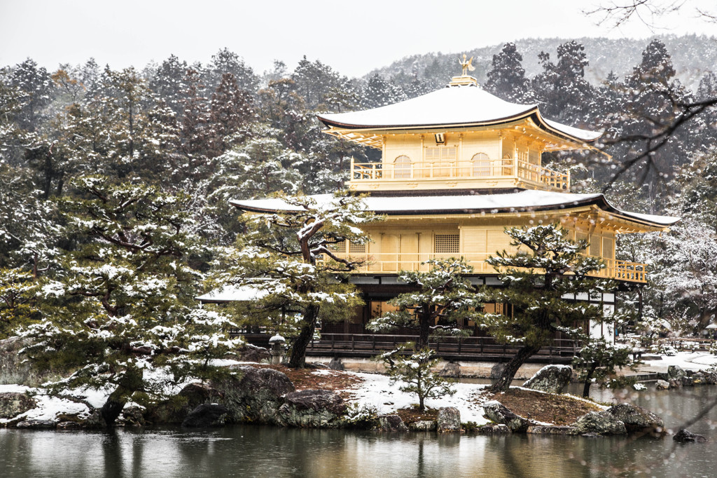
M 379 162 L 352 160 L 346 185 L 367 193 L 366 207 L 386 215 L 366 225 L 371 243 L 338 249 L 338 255 L 364 257 L 353 282 L 367 305 L 350 323 L 325 324 L 323 333 L 364 333 L 371 317 L 390 307 L 386 301 L 404 291 L 399 271 L 427 268 L 423 263 L 432 258 L 462 256 L 474 268 L 473 283 L 498 285 L 485 259 L 511 250 L 504 231 L 513 226 L 558 222 L 572 239 L 587 240 L 587 254 L 602 258 L 607 268 L 599 275 L 622 287 L 639 286 L 647 267 L 616 259 L 617 235 L 663 231 L 678 221 L 619 210 L 602 194 L 571 193 L 569 174 L 543 167 L 543 153 L 595 149 L 601 133 L 544 118 L 536 105 L 501 100 L 471 76 L 400 103 L 318 119 L 325 133 L 381 150 Z M 290 209 L 277 199 L 232 204 L 250 212 Z M 612 309 L 615 299 L 602 294 L 589 300 Z M 503 304 L 493 307 L 502 310 Z M 612 329 L 600 326 L 594 333 L 611 337 Z

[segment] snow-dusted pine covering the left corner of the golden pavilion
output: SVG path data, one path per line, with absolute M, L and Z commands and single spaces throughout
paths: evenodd
M 284 311 L 297 315 L 298 334 L 288 365 L 304 367 L 306 347 L 319 319 L 343 319 L 361 304 L 355 287 L 341 280 L 361 261 L 338 258 L 332 247 L 346 240 L 366 243 L 368 236 L 356 226 L 379 217 L 366 212 L 361 197 L 337 194 L 320 203 L 305 196 L 278 199 L 290 210 L 244 215 L 244 247 L 229 258 L 235 265 L 220 282 L 263 291 L 255 313 L 275 318 Z

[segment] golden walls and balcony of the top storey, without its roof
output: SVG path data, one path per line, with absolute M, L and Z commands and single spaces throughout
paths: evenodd
M 381 163 L 351 160 L 356 191 L 514 188 L 566 191 L 569 174 L 541 166 L 546 142 L 514 128 L 381 135 Z

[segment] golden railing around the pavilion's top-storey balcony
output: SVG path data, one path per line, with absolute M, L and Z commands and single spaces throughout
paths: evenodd
M 519 159 L 389 164 L 356 163 L 351 158 L 351 182 L 497 178 L 521 179 L 553 189 L 570 189 L 569 173 L 564 174 Z

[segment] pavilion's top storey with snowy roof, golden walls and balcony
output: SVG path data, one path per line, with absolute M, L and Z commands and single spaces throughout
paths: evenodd
M 567 192 L 566 172 L 543 153 L 595 149 L 600 133 L 541 116 L 455 77 L 447 88 L 380 108 L 318 115 L 325 133 L 381 149 L 381 161 L 351 161 L 356 191 L 543 189 Z

